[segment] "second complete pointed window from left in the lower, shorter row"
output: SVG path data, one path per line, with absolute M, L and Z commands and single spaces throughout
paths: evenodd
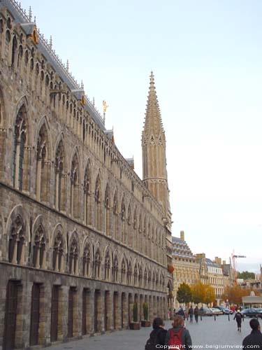
M 39 225 L 36 230 L 33 248 L 33 265 L 37 269 L 45 267 L 45 233 L 43 226 Z

